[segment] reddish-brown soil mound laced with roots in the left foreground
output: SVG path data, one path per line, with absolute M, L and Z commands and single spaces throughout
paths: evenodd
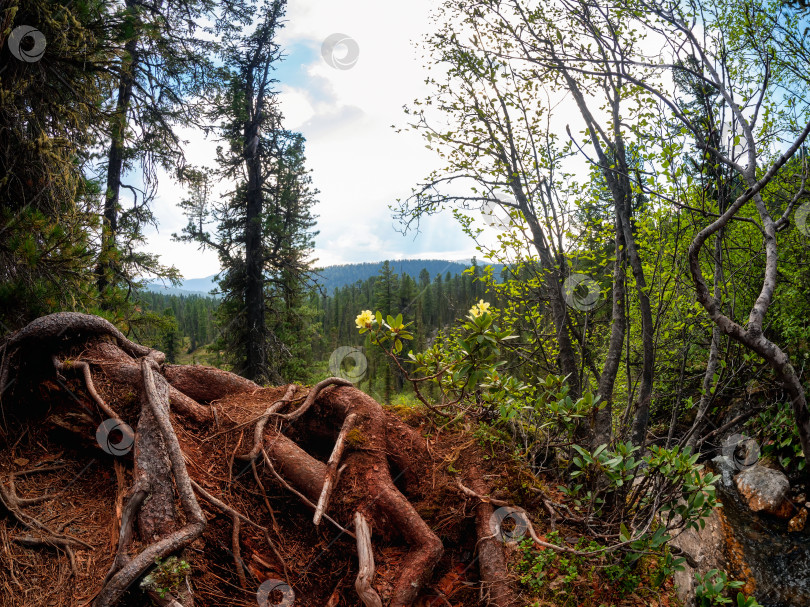
M 162 365 L 160 353 L 96 317 L 36 322 L 0 344 L 8 498 L 0 604 L 166 604 L 140 587 L 154 559 L 138 559 L 177 555 L 190 564 L 188 582 L 166 585 L 185 607 L 254 607 L 273 579 L 292 588 L 299 607 L 360 605 L 356 512 L 371 527 L 371 585 L 383 605 L 484 604 L 481 576 L 489 604 L 528 602 L 482 522 L 492 506 L 456 483 L 542 512 L 509 456 L 485 459 L 468 433 L 437 430 L 419 414 L 404 421 L 340 380 L 262 388 L 210 367 Z M 78 361 L 89 364 L 90 385 Z M 315 526 L 312 506 L 350 415 L 357 422 L 331 469 L 329 520 Z M 134 431 L 134 448 L 119 455 L 96 440 L 113 416 Z M 115 446 L 122 436 L 110 439 Z M 270 604 L 280 598 L 271 594 Z

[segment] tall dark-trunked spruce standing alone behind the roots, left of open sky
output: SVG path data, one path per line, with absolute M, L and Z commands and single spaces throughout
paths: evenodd
M 234 371 L 276 383 L 296 356 L 291 346 L 306 339 L 296 315 L 304 313 L 301 286 L 311 272 L 316 195 L 304 168 L 304 139 L 282 127 L 277 107 L 272 73 L 284 10 L 283 1 L 266 2 L 254 24 L 225 35 L 224 75 L 210 118 L 224 142 L 217 175 L 234 186 L 212 202 L 203 171 L 191 173 L 189 223 L 178 237 L 219 254 L 219 347 Z

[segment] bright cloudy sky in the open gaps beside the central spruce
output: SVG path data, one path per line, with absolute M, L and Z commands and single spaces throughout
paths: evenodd
M 414 43 L 431 31 L 430 0 L 294 0 L 279 35 L 286 58 L 275 77 L 285 127 L 307 139 L 307 165 L 320 190 L 313 258 L 317 265 L 383 259 L 462 260 L 475 245 L 449 213 L 424 220 L 419 234 L 402 235 L 388 208 L 406 198 L 439 158 L 417 133 L 396 133 L 406 116 L 403 105 L 427 95 L 421 51 Z M 343 34 L 356 43 L 356 63 L 330 66 L 324 41 Z M 352 43 L 349 42 L 349 45 Z M 350 61 L 338 45 L 337 61 Z M 190 163 L 213 168 L 216 142 L 196 131 L 181 131 Z M 211 251 L 172 242 L 186 220 L 176 206 L 185 190 L 162 175 L 154 210 L 159 229 L 147 233 L 148 249 L 161 254 L 185 278 L 219 271 Z

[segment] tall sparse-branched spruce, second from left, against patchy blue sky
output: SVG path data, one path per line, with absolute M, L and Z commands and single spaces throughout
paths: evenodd
M 211 0 L 125 0 L 110 20 L 108 43 L 118 60 L 110 70 L 115 93 L 104 123 L 106 174 L 96 263 L 96 286 L 106 309 L 125 304 L 144 274 L 178 277 L 157 255 L 137 249 L 145 243 L 144 227 L 157 225 L 151 208 L 157 168 L 183 176 L 176 126 L 198 122 L 198 105 L 190 99 L 202 94 L 214 73 L 215 45 L 200 35 L 198 25 L 213 17 L 213 6 Z M 140 169 L 142 186 L 126 180 L 134 169 Z M 128 208 L 122 190 L 132 196 Z M 126 290 L 117 290 L 120 286 Z

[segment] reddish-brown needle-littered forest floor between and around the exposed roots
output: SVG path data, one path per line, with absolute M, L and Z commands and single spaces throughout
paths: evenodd
M 74 348 L 71 355 L 93 360 L 92 347 L 89 350 L 90 354 L 84 346 Z M 99 450 L 92 427 L 88 431 L 84 414 L 77 410 L 91 411 L 94 407 L 80 374 L 54 377 L 51 373 L 49 377 L 43 371 L 32 373 L 29 379 L 16 387 L 13 401 L 0 403 L 0 487 L 6 498 L 16 496 L 20 506 L 15 513 L 0 510 L 0 604 L 89 606 L 113 567 L 122 512 L 126 518 L 127 492 L 134 482 L 132 458 L 137 458 L 138 446 L 136 443 L 133 455 L 119 457 Z M 103 365 L 93 369 L 93 380 L 101 399 L 135 427 L 142 400 L 137 386 L 128 388 Z M 174 410 L 170 414 L 188 475 L 244 519 L 241 526 L 234 525 L 227 511 L 210 500 L 198 500 L 205 529 L 183 552 L 190 565 L 195 605 L 254 607 L 259 604 L 257 589 L 261 593 L 268 580 L 283 581 L 294 592 L 294 603 L 274 595 L 271 600 L 277 600 L 276 604 L 361 605 L 355 590 L 357 544 L 354 534 L 346 529 L 358 500 L 372 511 L 368 509 L 369 497 L 372 507 L 377 498 L 368 495 L 371 488 L 364 480 L 368 477 L 353 473 L 351 468 L 337 477 L 341 497 L 330 502 L 327 512 L 344 527 L 339 530 L 326 520 L 315 526 L 312 508 L 304 505 L 289 485 L 269 477 L 263 465 L 259 467 L 263 482 L 259 482 L 259 473 L 237 456 L 252 444 L 253 422 L 279 402 L 286 390 L 258 388 L 218 398 L 212 403 L 217 411 L 215 423 L 192 424 Z M 331 394 L 341 390 L 347 389 L 333 389 Z M 13 407 L 10 402 L 15 403 Z M 334 441 L 324 440 L 318 425 L 326 423 L 328 416 L 313 410 L 316 414 L 309 421 L 290 425 L 285 435 L 315 460 L 327 462 Z M 536 478 L 506 442 L 482 431 L 483 426 L 465 421 L 440 426 L 418 407 L 384 408 L 384 415 L 390 428 L 402 429 L 404 422 L 414 431 L 413 436 L 424 441 L 419 452 L 427 453 L 429 461 L 420 462 L 418 478 L 409 478 L 412 471 L 404 468 L 392 469 L 391 475 L 396 488 L 407 495 L 444 547 L 415 598 L 417 607 L 485 604 L 480 597 L 481 555 L 484 544 L 492 540 L 481 535 L 480 525 L 476 527 L 482 500 L 465 494 L 460 485 L 462 479 L 468 482 L 471 471 L 477 471 L 489 497 L 525 509 L 541 540 L 586 547 L 588 540 L 577 524 L 558 520 L 552 529 L 541 496 L 563 502 L 562 493 L 552 483 Z M 362 451 L 366 440 L 359 430 L 349 432 L 347 452 Z M 373 470 L 377 470 L 376 465 Z M 186 519 L 181 516 L 179 520 Z M 504 523 L 505 530 L 507 527 Z M 403 542 L 400 524 L 385 515 L 373 518 L 371 528 L 376 565 L 371 585 L 387 605 L 401 585 L 399 577 L 408 566 L 413 546 Z M 71 538 L 70 548 L 38 540 L 35 531 L 44 533 L 45 529 L 50 537 Z M 558 552 L 533 547 L 528 536 L 518 539 L 525 541 L 498 542 L 506 563 L 502 582 L 514 597 L 510 604 L 678 604 L 670 581 L 658 590 L 651 589 L 650 579 L 655 573 L 652 561 L 642 560 L 629 578 L 633 583 L 623 588 L 615 581 L 615 567 L 604 561 L 563 558 Z M 136 541 L 133 547 L 142 549 L 147 543 Z M 176 586 L 177 580 L 171 575 L 163 579 L 161 583 L 167 588 L 176 589 L 173 584 Z M 148 605 L 149 599 L 137 584 L 130 585 L 117 604 Z

